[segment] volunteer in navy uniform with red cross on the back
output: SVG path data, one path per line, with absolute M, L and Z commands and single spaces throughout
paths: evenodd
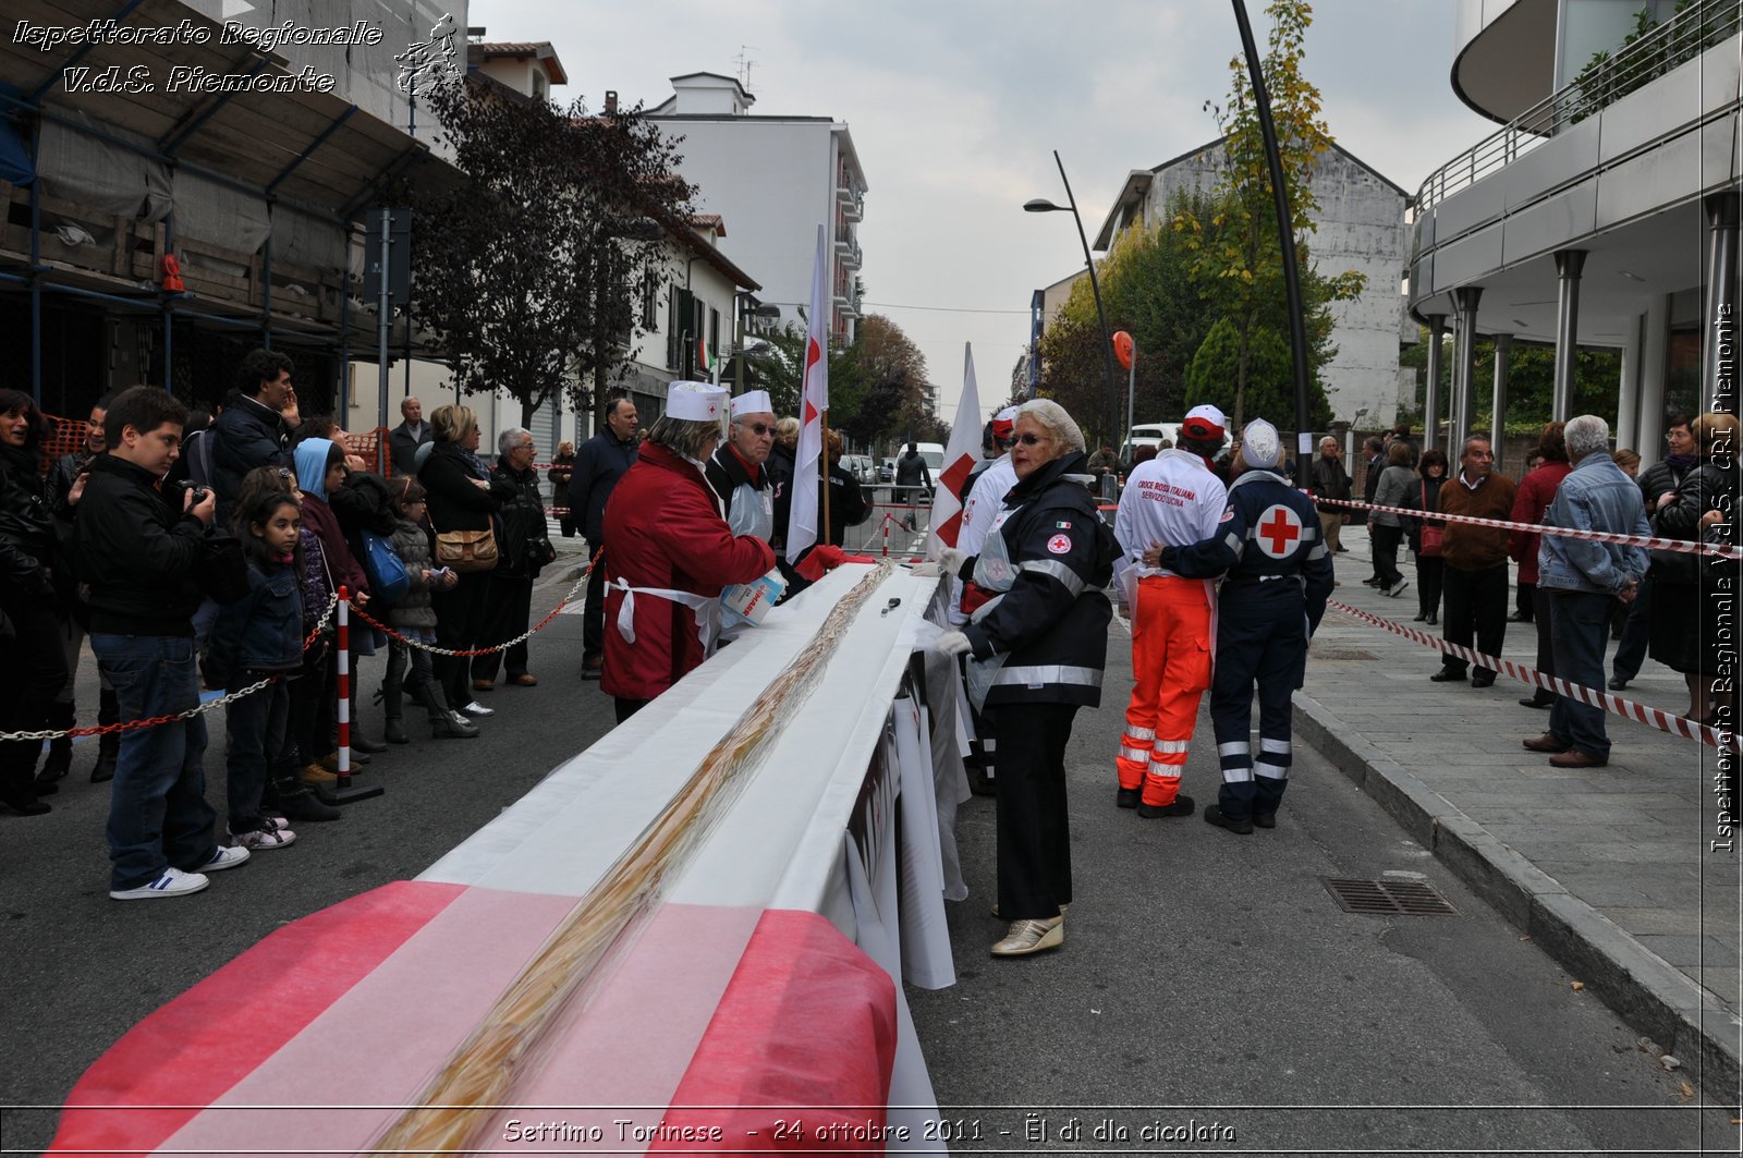
M 1290 692 L 1307 671 L 1307 640 L 1332 595 L 1332 556 L 1312 501 L 1278 474 L 1283 445 L 1264 419 L 1246 424 L 1217 534 L 1163 548 L 1177 576 L 1227 572 L 1217 605 L 1217 666 L 1210 717 L 1222 755 L 1222 790 L 1204 820 L 1246 835 L 1274 828 L 1290 776 Z M 1258 759 L 1253 759 L 1253 684 L 1258 684 Z

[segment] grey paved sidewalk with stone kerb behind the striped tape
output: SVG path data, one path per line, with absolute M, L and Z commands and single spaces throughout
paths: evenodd
M 1361 584 L 1372 574 L 1367 530 L 1346 528 L 1344 546 L 1333 600 L 1438 635 L 1410 623 L 1414 565 L 1401 562 L 1412 586 L 1387 598 Z M 1530 663 L 1536 647 L 1532 624 L 1508 624 L 1502 656 Z M 1295 694 L 1297 739 L 1679 1057 L 1712 1097 L 1736 1095 L 1743 893 L 1738 851 L 1710 849 L 1713 748 L 1612 715 L 1607 767 L 1555 769 L 1520 745 L 1544 732 L 1550 715 L 1516 703 L 1525 685 L 1433 684 L 1438 668 L 1438 652 L 1328 610 Z M 1682 677 L 1651 659 L 1621 694 L 1687 708 Z

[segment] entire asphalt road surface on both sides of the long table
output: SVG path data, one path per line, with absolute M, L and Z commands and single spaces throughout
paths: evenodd
M 553 577 L 535 614 L 566 588 Z M 1109 687 L 1122 691 L 1117 626 L 1110 642 Z M 579 652 L 580 617 L 556 617 L 533 640 L 540 687 L 490 694 L 498 715 L 483 738 L 431 741 L 408 715 L 413 743 L 359 776 L 387 795 L 338 823 L 303 825 L 296 846 L 174 902 L 108 900 L 106 794 L 85 781 L 92 752 L 80 745 L 54 813 L 0 816 L 0 1104 L 44 1107 L 0 1111 L 0 1149 L 45 1146 L 52 1106 L 146 1013 L 281 924 L 417 875 L 605 734 L 610 701 L 579 680 Z M 364 661 L 364 689 L 380 664 Z M 96 703 L 89 666 L 80 703 Z M 964 806 L 974 895 L 950 905 L 959 984 L 908 991 L 939 1100 L 964 1107 L 950 1113 L 964 1132 L 980 1123 L 980 1141 L 957 1137 L 957 1149 L 1736 1153 L 1731 1114 L 1703 1111 L 1619 1018 L 1572 989 L 1577 978 L 1311 753 L 1297 750 L 1276 832 L 1241 839 L 1197 818 L 1116 811 L 1119 706 L 1077 717 L 1079 888 L 1063 950 L 987 956 L 1000 931 L 985 910 L 992 806 Z M 380 710 L 366 701 L 361 715 L 380 734 Z M 216 722 L 213 734 L 218 804 Z M 1189 790 L 1203 800 L 1213 778 L 1211 757 L 1194 753 Z M 1346 916 L 1319 884 L 1387 872 L 1424 874 L 1459 916 Z M 1025 1111 L 1048 1120 L 1044 1142 L 1023 1141 Z M 1072 1116 L 1081 1137 L 1060 1137 Z M 1128 1137 L 1098 1141 L 1102 1120 Z M 1190 1123 L 1203 1141 L 1143 1141 L 1156 1123 L 1175 1135 Z M 1204 1134 L 1210 1123 L 1217 1132 Z

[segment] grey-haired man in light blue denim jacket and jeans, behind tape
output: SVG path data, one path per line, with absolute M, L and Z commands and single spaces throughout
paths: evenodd
M 1611 459 L 1611 427 L 1590 413 L 1569 420 L 1563 431 L 1574 473 L 1556 487 L 1544 527 L 1651 535 L 1640 490 Z M 1644 548 L 1544 535 L 1537 548 L 1537 586 L 1550 595 L 1550 642 L 1555 673 L 1569 684 L 1604 687 L 1604 644 L 1611 633 L 1611 600 L 1633 602 L 1645 576 Z M 1604 710 L 1556 696 L 1550 731 L 1527 739 L 1532 752 L 1548 752 L 1555 767 L 1604 767 L 1611 739 Z

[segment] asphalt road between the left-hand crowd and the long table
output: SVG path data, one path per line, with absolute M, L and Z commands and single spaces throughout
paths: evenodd
M 533 593 L 533 616 L 542 617 L 568 586 L 551 574 Z M 361 671 L 359 717 L 376 739 L 382 710 L 370 694 L 383 664 L 380 656 L 364 659 Z M 408 705 L 411 743 L 375 757 L 356 778 L 382 785 L 385 795 L 350 806 L 343 820 L 298 825 L 291 848 L 260 853 L 187 898 L 108 898 L 108 792 L 87 780 L 96 745 L 78 743 L 73 774 L 49 797 L 52 813 L 0 814 L 0 1106 L 58 1106 L 146 1013 L 281 924 L 418 875 L 612 729 L 610 698 L 579 675 L 580 616 L 558 616 L 533 637 L 530 666 L 539 687 L 498 684 L 481 696 L 497 715 L 479 720 L 478 739 L 431 739 L 422 710 Z M 80 720 L 96 717 L 96 666 L 84 663 Z M 207 719 L 206 797 L 223 823 L 221 712 Z M 342 1090 L 335 1100 L 343 1100 Z M 0 1151 L 40 1149 L 54 1118 L 52 1109 L 0 1111 Z

